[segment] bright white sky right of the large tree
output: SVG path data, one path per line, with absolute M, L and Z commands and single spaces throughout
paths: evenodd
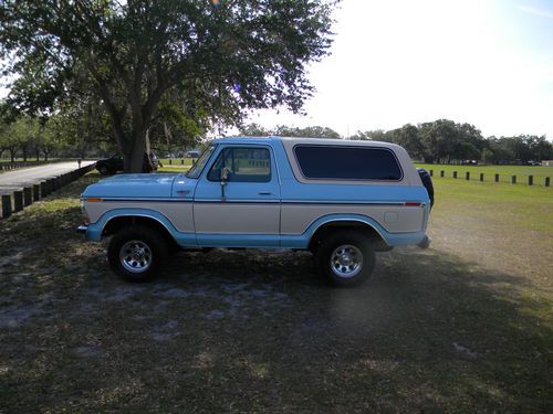
M 335 20 L 306 115 L 249 121 L 349 136 L 447 118 L 553 140 L 553 0 L 343 0 Z

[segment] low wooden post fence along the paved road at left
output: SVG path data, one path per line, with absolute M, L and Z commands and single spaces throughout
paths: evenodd
M 54 178 L 25 184 L 25 187 L 21 190 L 15 190 L 10 194 L 3 194 L 2 219 L 9 217 L 11 214 L 22 211 L 25 206 L 31 205 L 33 202 L 39 201 L 53 191 L 56 191 L 70 182 L 75 181 L 88 171 L 92 171 L 94 167 L 95 164 L 92 163 Z

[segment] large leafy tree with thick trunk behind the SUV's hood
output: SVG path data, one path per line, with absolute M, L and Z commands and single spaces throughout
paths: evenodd
M 125 159 L 140 171 L 148 130 L 171 91 L 213 118 L 301 110 L 305 66 L 327 53 L 333 0 L 4 0 L 8 102 L 52 113 L 79 78 L 102 98 Z

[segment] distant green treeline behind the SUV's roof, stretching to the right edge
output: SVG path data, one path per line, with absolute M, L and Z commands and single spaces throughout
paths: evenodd
M 265 129 L 249 124 L 240 132 L 248 136 L 286 136 L 344 138 L 326 127 L 294 128 L 278 126 Z M 429 163 L 455 163 L 463 160 L 482 160 L 490 163 L 525 163 L 553 159 L 553 145 L 545 136 L 519 135 L 514 137 L 482 137 L 473 125 L 438 119 L 418 125 L 407 124 L 401 128 L 384 131 L 357 131 L 347 139 L 395 142 L 406 148 L 413 159 Z

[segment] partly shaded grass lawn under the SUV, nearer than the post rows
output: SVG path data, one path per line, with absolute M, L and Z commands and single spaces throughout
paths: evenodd
M 306 253 L 85 243 L 88 173 L 0 221 L 0 412 L 553 412 L 553 190 L 435 180 L 428 251 L 356 289 Z

